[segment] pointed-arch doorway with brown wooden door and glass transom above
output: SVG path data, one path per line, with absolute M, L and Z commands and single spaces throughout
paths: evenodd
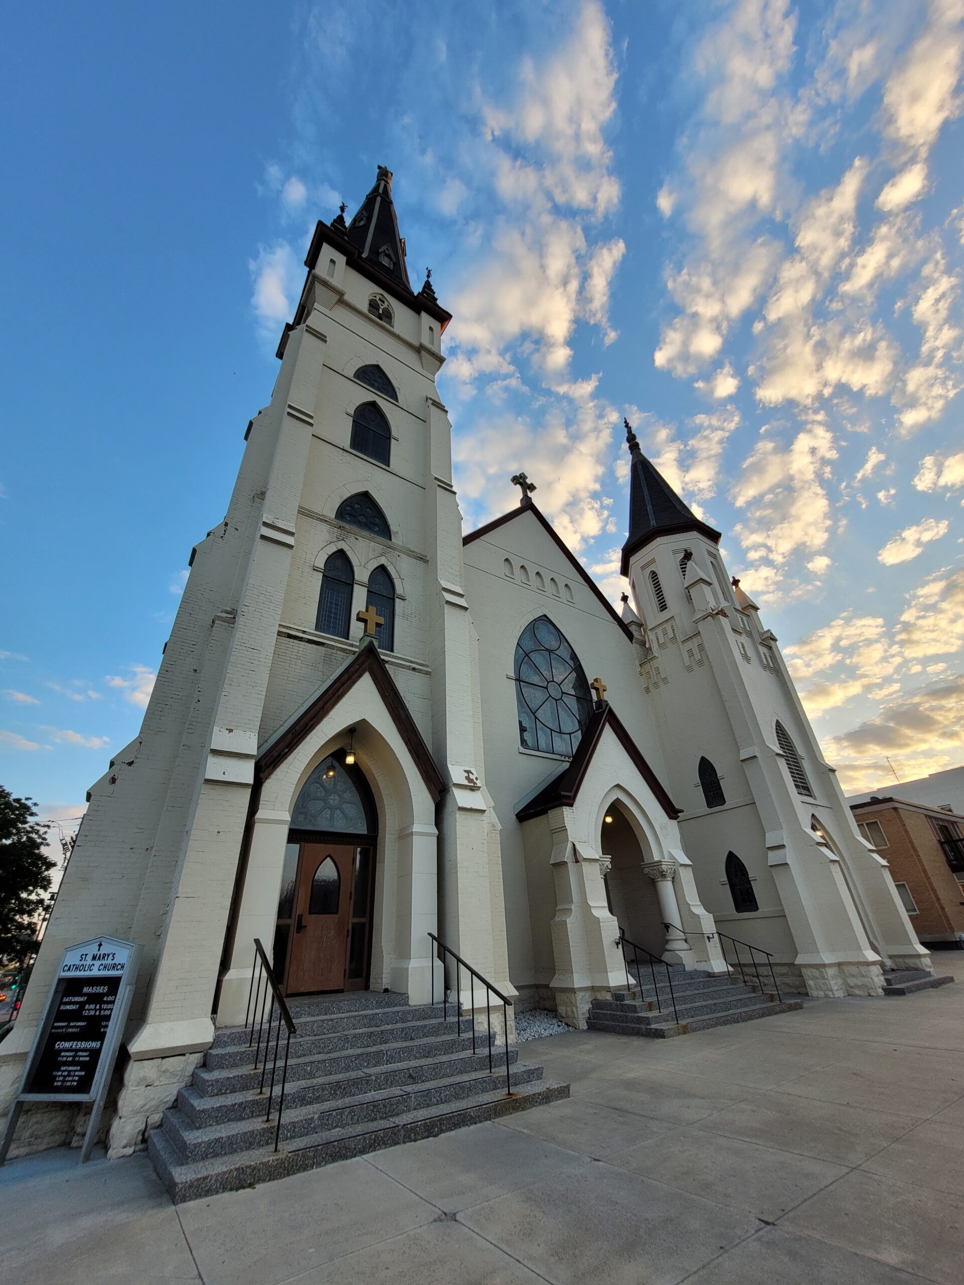
M 298 793 L 284 849 L 272 968 L 287 995 L 368 988 L 377 839 L 364 772 L 329 754 Z

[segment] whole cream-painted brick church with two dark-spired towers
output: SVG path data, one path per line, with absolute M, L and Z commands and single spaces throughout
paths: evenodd
M 0 1045 L 3 1110 L 63 948 L 140 943 L 113 1154 L 243 1020 L 254 938 L 288 995 L 425 1004 L 437 933 L 576 1027 L 626 986 L 620 930 L 715 974 L 727 934 L 815 996 L 929 969 L 719 532 L 629 425 L 621 614 L 524 474 L 463 532 L 450 315 L 410 285 L 391 180 L 317 225 L 228 514 Z

